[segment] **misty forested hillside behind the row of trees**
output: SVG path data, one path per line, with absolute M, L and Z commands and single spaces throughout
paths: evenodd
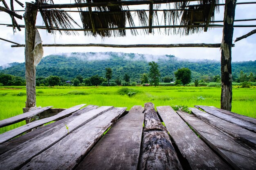
M 155 61 L 159 65 L 161 77 L 175 77 L 178 68 L 187 67 L 192 71 L 192 80 L 220 75 L 220 62 L 215 60 L 180 60 L 173 55 L 143 55 L 134 53 L 62 53 L 44 57 L 36 67 L 37 77 L 57 75 L 73 79 L 77 75 L 84 78 L 92 75 L 105 77 L 105 68 L 113 71 L 112 79 L 122 78 L 125 73 L 132 81 L 140 79 L 141 74 L 148 73 L 148 62 Z M 10 64 L 11 67 L 2 69 L 0 73 L 25 77 L 25 63 Z M 247 75 L 256 73 L 256 61 L 233 62 L 233 77 L 239 76 L 240 71 Z

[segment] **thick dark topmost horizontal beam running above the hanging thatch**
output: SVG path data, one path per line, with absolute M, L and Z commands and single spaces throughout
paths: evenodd
M 115 7 L 143 4 L 166 4 L 172 2 L 187 2 L 197 0 L 127 0 L 115 2 L 90 2 L 90 3 L 74 3 L 74 4 L 35 4 L 36 7 L 42 9 L 61 9 L 61 8 L 83 8 L 83 7 Z

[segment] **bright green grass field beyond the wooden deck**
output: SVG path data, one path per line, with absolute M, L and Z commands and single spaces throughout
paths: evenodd
M 36 105 L 69 108 L 78 104 L 127 107 L 152 102 L 155 106 L 194 105 L 216 106 L 220 108 L 221 88 L 216 87 L 177 87 L 129 86 L 113 87 L 37 87 Z M 128 92 L 136 94 L 129 97 Z M 130 93 L 131 94 L 131 93 Z M 0 88 L 0 120 L 22 113 L 25 107 L 25 86 Z M 233 88 L 232 112 L 256 118 L 256 88 Z M 0 128 L 0 133 L 24 125 L 25 121 Z

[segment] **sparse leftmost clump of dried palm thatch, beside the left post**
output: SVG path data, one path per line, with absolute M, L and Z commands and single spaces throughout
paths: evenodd
M 42 9 L 42 17 L 44 17 L 44 20 L 47 22 L 50 28 L 60 28 L 60 29 L 74 29 L 74 26 L 72 23 L 77 24 L 71 16 L 61 10 L 56 9 Z M 56 29 L 58 31 L 58 29 Z M 54 32 L 53 32 L 54 33 Z M 62 31 L 59 31 L 59 33 L 62 35 Z M 76 31 L 64 31 L 66 35 L 76 35 L 78 34 Z

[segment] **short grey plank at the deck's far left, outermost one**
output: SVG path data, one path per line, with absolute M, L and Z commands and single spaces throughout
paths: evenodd
M 39 113 L 42 113 L 43 111 L 52 108 L 52 106 L 47 106 L 47 107 L 43 107 L 43 108 L 37 108 L 36 110 L 32 110 L 29 111 L 27 113 L 23 113 L 14 117 L 10 117 L 8 119 L 4 119 L 0 121 L 0 128 L 4 127 L 4 126 L 8 126 L 11 124 L 15 124 L 17 122 L 23 121 L 25 119 L 28 119 L 30 117 L 33 117 L 35 115 L 38 115 Z

